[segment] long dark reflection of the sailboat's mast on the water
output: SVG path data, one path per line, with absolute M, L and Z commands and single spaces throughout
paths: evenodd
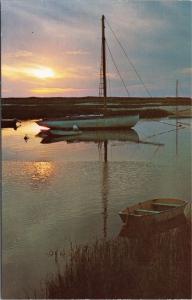
M 103 203 L 103 237 L 107 238 L 107 208 L 108 208 L 108 162 L 107 162 L 107 141 L 104 142 L 104 162 L 102 181 L 102 203 Z

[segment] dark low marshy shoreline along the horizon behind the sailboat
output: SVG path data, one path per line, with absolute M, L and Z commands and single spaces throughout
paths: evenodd
M 35 118 L 63 117 L 75 114 L 98 114 L 104 112 L 102 97 L 29 97 L 29 98 L 3 98 L 2 117 L 18 118 L 21 120 Z M 167 117 L 172 112 L 167 106 L 187 105 L 190 108 L 190 98 L 127 98 L 108 97 L 107 113 L 135 114 L 140 118 Z

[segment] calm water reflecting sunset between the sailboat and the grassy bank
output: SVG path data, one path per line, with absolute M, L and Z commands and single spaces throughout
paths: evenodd
M 155 197 L 190 201 L 191 120 L 180 121 L 187 125 L 177 137 L 168 119 L 104 134 L 107 163 L 99 134 L 41 143 L 34 121 L 3 129 L 3 296 L 31 293 L 57 268 L 52 251 L 62 260 L 71 241 L 117 236 L 122 208 Z

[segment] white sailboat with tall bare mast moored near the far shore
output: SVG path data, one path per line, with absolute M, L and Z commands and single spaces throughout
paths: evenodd
M 107 115 L 107 76 L 106 76 L 106 39 L 105 39 L 105 16 L 102 16 L 102 76 L 104 114 L 67 116 L 58 119 L 43 119 L 37 124 L 43 127 L 57 130 L 101 130 L 101 129 L 124 129 L 133 127 L 139 120 L 138 114 L 133 115 Z

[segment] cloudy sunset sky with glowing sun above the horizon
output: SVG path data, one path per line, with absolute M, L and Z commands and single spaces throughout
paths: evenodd
M 177 79 L 191 96 L 190 1 L 1 0 L 2 97 L 98 96 L 103 14 L 130 96 L 148 96 L 137 74 L 154 97 L 175 96 Z M 108 48 L 107 77 L 108 96 L 127 96 Z

